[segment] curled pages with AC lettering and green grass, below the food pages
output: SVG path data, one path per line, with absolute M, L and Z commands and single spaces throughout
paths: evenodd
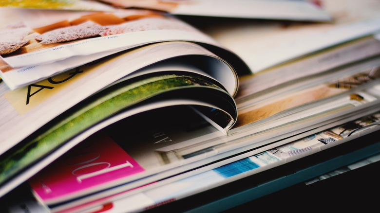
M 238 78 L 207 53 L 194 43 L 160 42 L 19 89 L 2 83 L 0 193 L 101 128 L 155 108 L 191 105 L 226 135 L 237 119 Z

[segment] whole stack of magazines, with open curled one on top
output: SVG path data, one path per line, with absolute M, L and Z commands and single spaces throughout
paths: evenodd
M 379 132 L 380 4 L 333 2 L 2 1 L 0 202 L 142 212 Z

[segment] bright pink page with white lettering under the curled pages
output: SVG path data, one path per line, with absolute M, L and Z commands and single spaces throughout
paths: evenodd
M 127 150 L 99 132 L 35 175 L 29 184 L 49 203 L 143 171 Z

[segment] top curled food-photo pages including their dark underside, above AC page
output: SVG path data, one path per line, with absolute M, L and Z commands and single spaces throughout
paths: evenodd
M 196 53 L 196 48 L 181 52 L 214 54 L 227 60 L 236 71 L 249 73 L 237 55 L 164 13 L 132 9 L 113 12 L 6 9 L 16 14 L 1 28 L 0 35 L 4 44 L 3 52 L 0 50 L 0 76 L 10 89 L 36 83 L 107 55 L 169 41 L 200 44 L 209 52 Z

